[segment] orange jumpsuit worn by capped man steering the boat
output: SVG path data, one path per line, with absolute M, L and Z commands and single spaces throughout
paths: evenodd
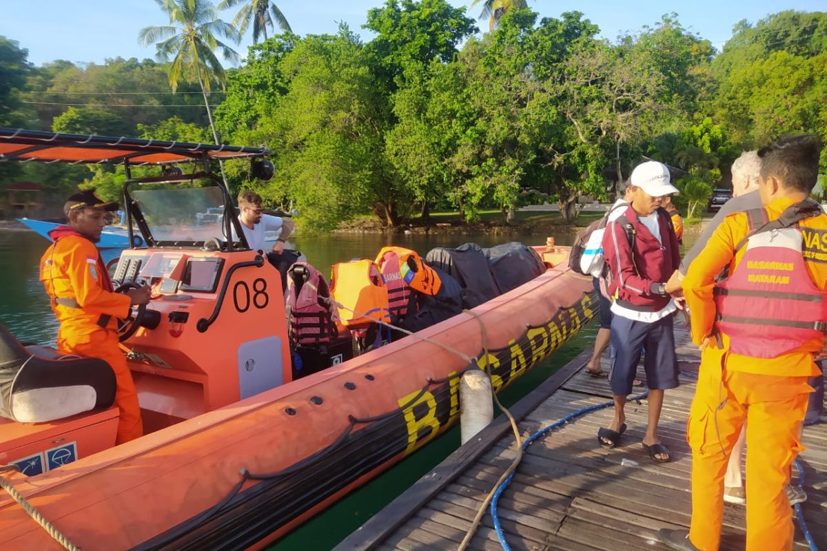
M 112 292 L 112 283 L 92 241 L 65 231 L 41 258 L 41 281 L 60 322 L 57 348 L 61 354 L 76 354 L 105 360 L 115 372 L 115 404 L 120 409 L 117 444 L 143 435 L 141 409 L 127 359 L 117 340 L 116 316 L 126 318 L 130 308 L 127 295 Z M 102 273 L 103 272 L 103 273 Z M 57 304 L 55 298 L 74 298 L 79 307 Z M 112 316 L 105 327 L 101 315 Z

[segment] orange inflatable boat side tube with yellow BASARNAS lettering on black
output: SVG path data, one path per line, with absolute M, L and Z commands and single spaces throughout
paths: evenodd
M 84 549 L 261 546 L 447 430 L 459 417 L 466 368 L 488 363 L 499 391 L 547 358 L 594 315 L 591 292 L 590 278 L 549 269 L 474 315 L 454 316 L 34 481 L 11 479 Z M 3 496 L 0 547 L 6 546 L 59 549 Z

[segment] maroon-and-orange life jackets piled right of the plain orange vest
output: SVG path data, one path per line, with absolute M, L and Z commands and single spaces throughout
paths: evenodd
M 376 255 L 375 264 L 388 289 L 388 307 L 394 320 L 402 319 L 408 313 L 412 292 L 433 297 L 442 285 L 433 268 L 424 264 L 410 249 L 384 247 Z

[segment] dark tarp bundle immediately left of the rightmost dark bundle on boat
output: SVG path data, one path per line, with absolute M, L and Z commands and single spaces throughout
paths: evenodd
M 457 249 L 436 247 L 425 257 L 432 268 L 450 274 L 462 287 L 462 306 L 473 308 L 500 295 L 488 259 L 480 245 L 466 243 Z

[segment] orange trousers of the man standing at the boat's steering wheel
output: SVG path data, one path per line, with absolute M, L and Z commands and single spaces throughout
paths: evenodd
M 57 348 L 61 354 L 103 359 L 112 367 L 117 383 L 115 405 L 120 410 L 115 444 L 123 444 L 143 436 L 144 426 L 141 421 L 141 407 L 138 406 L 138 393 L 127 366 L 127 359 L 118 346 L 117 333 L 114 330 L 103 329 L 91 335 L 81 336 L 61 333 L 58 335 Z

